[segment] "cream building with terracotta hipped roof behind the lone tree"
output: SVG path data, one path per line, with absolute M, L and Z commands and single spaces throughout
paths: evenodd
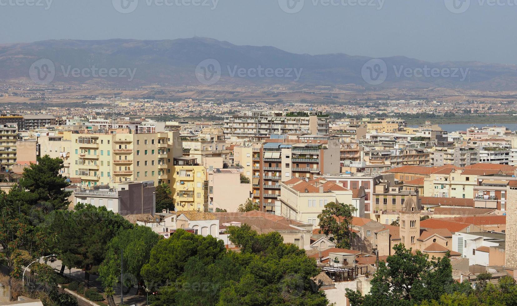
M 317 216 L 325 209 L 327 203 L 353 205 L 352 190 L 321 178 L 292 178 L 281 182 L 280 189 L 281 195 L 275 201 L 275 213 L 287 219 L 311 223 L 315 227 L 320 223 Z M 361 213 L 364 216 L 364 206 L 358 205 L 356 208 L 356 217 L 360 217 Z

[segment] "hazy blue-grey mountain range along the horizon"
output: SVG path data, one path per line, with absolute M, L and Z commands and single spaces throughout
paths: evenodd
M 379 47 L 379 48 L 382 48 Z M 425 47 L 422 47 L 425 48 Z M 404 56 L 382 58 L 386 63 L 386 81 L 372 85 L 365 82 L 363 65 L 370 57 L 346 54 L 295 54 L 274 47 L 235 45 L 210 38 L 175 40 L 47 40 L 33 43 L 0 45 L 0 79 L 29 83 L 29 68 L 38 59 L 48 58 L 55 65 L 53 83 L 90 83 L 109 86 L 203 85 L 195 69 L 205 59 L 221 65 L 219 85 L 344 85 L 366 88 L 465 88 L 480 90 L 514 90 L 517 65 L 479 62 L 430 63 Z M 73 68 L 117 68 L 134 70 L 128 78 L 70 77 Z M 240 76 L 239 68 L 272 68 L 290 72 L 292 77 Z M 430 69 L 440 71 L 431 73 Z M 419 70 L 421 69 L 421 70 Z M 427 75 L 422 70 L 429 69 Z M 442 73 L 442 72 L 446 73 Z M 456 71 L 456 72 L 454 72 Z M 299 75 L 296 75 L 299 72 Z M 362 74 L 361 74 L 362 72 Z M 447 73 L 448 72 L 448 73 Z M 452 76 L 455 73 L 457 76 Z M 422 75 L 422 77 L 417 77 Z M 298 79 L 299 77 L 299 79 Z M 298 79 L 298 80 L 297 80 Z

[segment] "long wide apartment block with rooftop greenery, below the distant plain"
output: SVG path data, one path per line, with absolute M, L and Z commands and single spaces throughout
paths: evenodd
M 269 136 L 272 134 L 329 133 L 329 117 L 321 112 L 252 110 L 224 118 L 224 134 Z

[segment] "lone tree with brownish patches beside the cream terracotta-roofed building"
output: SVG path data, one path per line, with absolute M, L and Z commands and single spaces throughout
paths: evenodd
M 337 248 L 349 249 L 352 240 L 352 220 L 357 211 L 352 205 L 329 202 L 318 215 L 320 228 Z

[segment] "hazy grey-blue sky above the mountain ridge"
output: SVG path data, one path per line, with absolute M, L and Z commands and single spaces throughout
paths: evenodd
M 195 31 L 294 53 L 517 64 L 517 0 L 132 1 L 0 0 L 0 43 L 175 39 Z M 117 11 L 124 11 L 121 5 L 132 11 Z M 453 13 L 447 6 L 455 12 L 468 9 Z

